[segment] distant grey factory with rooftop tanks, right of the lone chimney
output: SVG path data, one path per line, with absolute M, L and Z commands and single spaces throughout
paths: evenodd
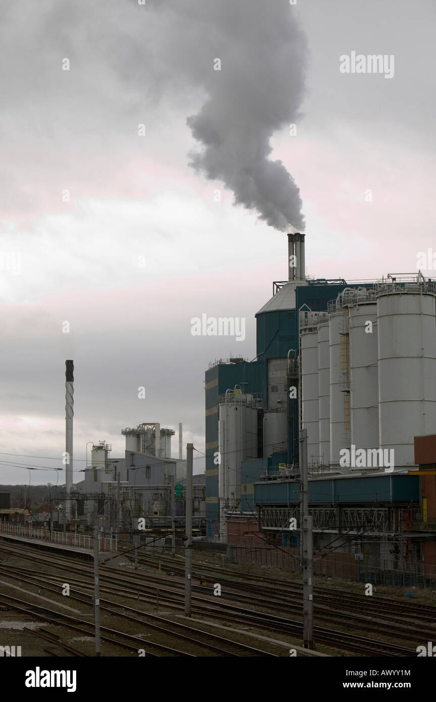
M 181 427 L 179 428 L 181 432 Z M 84 470 L 85 479 L 73 493 L 76 500 L 76 522 L 79 528 L 90 527 L 95 517 L 102 517 L 120 529 L 137 527 L 144 517 L 147 527 L 168 526 L 171 521 L 172 484 L 175 486 L 175 515 L 185 515 L 186 460 L 182 459 L 181 435 L 179 458 L 171 456 L 174 430 L 161 428 L 159 423 L 142 423 L 125 428 L 125 456 L 111 458 L 111 445 L 93 444 L 90 465 Z M 204 476 L 193 480 L 193 523 L 204 524 Z

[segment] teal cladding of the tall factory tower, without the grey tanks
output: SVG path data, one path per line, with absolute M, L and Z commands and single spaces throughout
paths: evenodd
M 291 237 L 292 235 L 288 236 Z M 300 237 L 304 246 L 304 235 L 296 234 Z M 302 237 L 302 239 L 301 239 Z M 303 253 L 304 260 L 304 253 Z M 362 284 L 360 284 L 362 285 Z M 371 283 L 364 284 L 372 287 Z M 304 274 L 300 277 L 294 269 L 289 269 L 289 280 L 273 283 L 273 297 L 268 300 L 264 307 L 256 314 L 257 320 L 257 358 L 253 362 L 245 359 L 231 358 L 220 359 L 210 364 L 205 372 L 205 446 L 206 446 L 206 521 L 207 536 L 212 538 L 217 533 L 217 522 L 219 520 L 219 491 L 218 491 L 218 421 L 219 421 L 219 396 L 224 395 L 228 388 L 233 389 L 237 384 L 243 388 L 243 392 L 256 394 L 261 397 L 264 407 L 271 405 L 271 391 L 280 390 L 282 397 L 287 402 L 287 451 L 282 456 L 283 463 L 296 463 L 298 461 L 298 399 L 289 400 L 287 388 L 280 388 L 268 383 L 271 379 L 271 364 L 296 357 L 299 349 L 299 311 L 308 310 L 322 312 L 327 310 L 330 300 L 335 300 L 346 287 L 358 287 L 348 285 L 343 279 L 318 279 L 306 280 Z M 293 351 L 292 351 L 293 350 Z M 287 378 L 284 378 L 287 380 Z M 286 384 L 285 384 L 286 385 Z M 283 393 L 285 391 L 285 394 Z M 269 403 L 269 404 L 268 404 Z M 258 428 L 258 451 L 261 458 L 263 453 L 263 438 L 261 415 L 259 414 Z M 268 459 L 269 460 L 269 459 Z M 241 475 L 241 510 L 252 510 L 248 507 L 250 500 L 248 495 L 253 495 L 252 490 L 247 486 L 252 485 L 255 479 L 259 479 L 261 472 L 270 468 L 266 463 L 253 461 L 252 467 L 248 467 L 249 461 L 244 461 L 244 470 L 247 471 L 247 479 L 244 473 Z M 242 467 L 241 467 L 242 469 Z M 247 496 L 244 498 L 245 491 Z M 245 507 L 243 506 L 243 504 Z

